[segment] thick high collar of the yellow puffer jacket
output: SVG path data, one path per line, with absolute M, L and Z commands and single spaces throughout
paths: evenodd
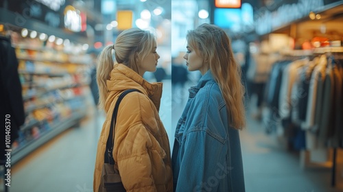
M 107 80 L 106 84 L 108 97 L 116 96 L 129 88 L 137 88 L 152 100 L 157 110 L 160 108 L 163 84 L 161 82 L 152 84 L 147 82 L 141 75 L 124 64 L 115 64 L 110 73 L 110 80 Z M 106 103 L 105 110 L 108 111 L 110 103 Z

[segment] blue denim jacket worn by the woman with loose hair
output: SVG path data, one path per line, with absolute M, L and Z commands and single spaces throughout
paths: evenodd
M 239 133 L 228 123 L 226 104 L 211 71 L 189 88 L 175 139 L 174 191 L 245 191 Z

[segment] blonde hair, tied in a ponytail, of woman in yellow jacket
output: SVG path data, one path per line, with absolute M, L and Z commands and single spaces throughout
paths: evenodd
M 126 29 L 115 40 L 115 45 L 105 47 L 97 58 L 97 86 L 99 87 L 99 108 L 104 108 L 108 95 L 106 81 L 113 70 L 113 51 L 117 63 L 139 73 L 138 64 L 153 49 L 156 38 L 149 31 L 139 28 Z

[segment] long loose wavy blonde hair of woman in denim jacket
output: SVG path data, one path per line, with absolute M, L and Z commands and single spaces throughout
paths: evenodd
M 245 88 L 241 83 L 241 67 L 233 56 L 230 38 L 220 27 L 205 23 L 187 33 L 187 43 L 202 57 L 204 67 L 211 70 L 219 84 L 230 125 L 239 130 L 244 128 Z

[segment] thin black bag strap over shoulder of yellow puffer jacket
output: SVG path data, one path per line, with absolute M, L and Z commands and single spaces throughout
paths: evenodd
M 110 165 L 115 165 L 115 160 L 113 159 L 112 152 L 113 152 L 113 145 L 114 145 L 114 140 L 115 140 L 115 123 L 117 121 L 117 113 L 118 113 L 119 104 L 121 100 L 123 99 L 123 97 L 125 97 L 125 95 L 128 95 L 128 93 L 131 93 L 133 91 L 138 91 L 139 93 L 141 93 L 141 91 L 135 88 L 124 91 L 123 93 L 121 93 L 121 95 L 119 95 L 117 103 L 115 104 L 115 110 L 113 110 L 112 119 L 110 121 L 110 133 L 108 134 L 106 150 L 105 150 L 105 163 L 110 163 Z

